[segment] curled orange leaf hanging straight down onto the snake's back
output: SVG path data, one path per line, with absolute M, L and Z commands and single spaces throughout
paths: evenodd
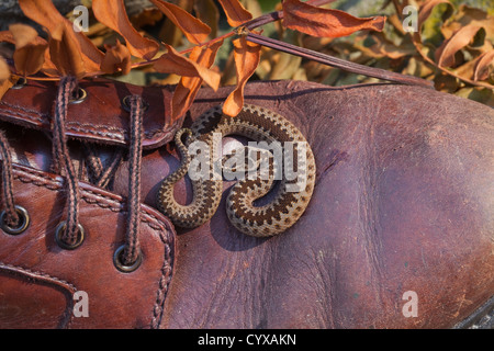
M 249 78 L 256 71 L 260 61 L 261 46 L 247 42 L 244 36 L 233 41 L 235 67 L 237 70 L 237 87 L 226 98 L 223 105 L 223 113 L 228 116 L 236 116 L 244 106 L 244 89 Z

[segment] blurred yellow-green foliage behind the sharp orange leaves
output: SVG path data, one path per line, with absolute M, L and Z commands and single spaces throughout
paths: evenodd
M 67 1 L 91 9 L 91 0 Z M 215 0 L 169 0 L 192 13 L 211 27 L 210 38 L 232 31 L 222 7 Z M 257 18 L 281 10 L 279 0 L 240 0 Z M 183 32 L 147 0 L 126 0 L 128 18 L 141 34 L 176 48 L 190 49 L 193 44 Z M 430 13 L 418 23 L 418 33 L 403 31 L 402 10 L 412 4 Z M 340 9 L 356 16 L 385 15 L 382 32 L 359 31 L 338 38 L 316 37 L 289 30 L 280 22 L 262 26 L 262 35 L 301 47 L 317 50 L 360 65 L 378 67 L 434 81 L 437 90 L 472 99 L 494 106 L 494 7 L 492 0 L 336 0 L 324 8 Z M 69 12 L 66 16 L 75 20 Z M 97 21 L 91 14 L 89 32 L 92 43 L 104 52 L 123 42 L 115 31 Z M 166 48 L 161 48 L 166 53 Z M 213 70 L 221 72 L 222 84 L 236 83 L 236 67 L 231 38 L 218 49 Z M 4 55 L 3 52 L 0 54 Z M 158 53 L 158 55 L 162 54 Z M 136 58 L 133 58 L 134 61 Z M 110 75 L 134 84 L 176 84 L 181 77 L 160 73 L 153 67 L 133 68 L 127 75 Z M 252 80 L 295 79 L 330 86 L 346 86 L 375 81 L 373 78 L 345 72 L 301 57 L 262 47 L 260 64 Z

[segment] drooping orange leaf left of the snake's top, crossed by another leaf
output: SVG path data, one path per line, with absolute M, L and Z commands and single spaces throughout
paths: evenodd
M 211 68 L 214 64 L 217 50 L 223 45 L 223 41 L 211 44 L 206 47 L 195 46 L 189 59 L 198 65 Z M 191 106 L 201 88 L 203 79 L 201 77 L 182 77 L 173 92 L 171 100 L 171 122 L 180 118 Z

